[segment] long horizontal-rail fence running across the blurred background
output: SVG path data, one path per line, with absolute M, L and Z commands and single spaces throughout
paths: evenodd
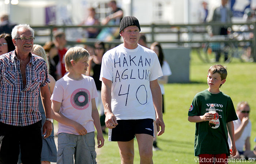
M 238 34 L 251 33 L 253 37 L 251 38 L 226 38 L 225 40 L 210 40 L 210 36 L 207 33 L 207 27 L 213 26 L 226 26 L 232 27 L 231 33 L 237 32 Z M 239 30 L 239 28 L 247 26 L 247 30 Z M 54 40 L 53 34 L 56 30 L 62 30 L 66 33 L 73 30 L 83 31 L 86 28 L 119 28 L 119 26 L 32 26 L 35 30 L 35 37 L 41 38 L 36 39 L 35 43 L 44 44 L 47 41 Z M 140 25 L 142 31 L 145 35 L 147 35 L 148 43 L 153 43 L 155 41 L 162 44 L 170 44 L 174 46 L 187 46 L 187 47 L 199 47 L 202 43 L 209 42 L 250 42 L 252 47 L 256 45 L 256 22 L 247 22 L 247 23 L 200 23 L 200 24 L 142 24 Z M 233 30 L 234 27 L 238 30 Z M 149 36 L 149 37 L 148 37 Z M 184 37 L 185 36 L 185 37 Z M 86 37 L 69 37 L 67 38 L 67 44 L 73 46 L 75 44 L 88 44 L 93 45 L 97 40 L 97 38 L 86 38 Z M 122 41 L 120 39 L 112 39 L 112 40 L 102 40 L 108 44 L 120 44 Z M 256 48 L 252 48 L 253 50 L 253 59 L 256 61 Z

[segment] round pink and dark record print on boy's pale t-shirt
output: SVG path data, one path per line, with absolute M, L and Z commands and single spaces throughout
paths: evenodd
M 91 101 L 91 95 L 89 90 L 80 88 L 76 89 L 70 98 L 71 105 L 78 110 L 84 110 L 88 108 L 89 102 Z

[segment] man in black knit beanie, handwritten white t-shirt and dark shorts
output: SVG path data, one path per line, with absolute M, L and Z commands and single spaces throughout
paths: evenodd
M 121 163 L 133 163 L 134 137 L 140 163 L 153 163 L 153 120 L 158 136 L 164 133 L 162 96 L 157 78 L 162 70 L 154 51 L 140 46 L 138 19 L 126 16 L 120 23 L 124 43 L 103 55 L 100 80 L 109 141 L 117 141 Z M 160 130 L 161 126 L 161 130 Z

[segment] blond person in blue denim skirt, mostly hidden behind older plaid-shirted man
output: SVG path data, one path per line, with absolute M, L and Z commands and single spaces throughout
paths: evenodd
M 47 60 L 47 56 L 44 48 L 38 44 L 34 44 L 33 50 L 31 53 L 42 57 L 45 60 L 47 64 L 47 69 L 49 71 L 49 64 L 48 64 L 48 60 Z M 49 86 L 50 94 L 52 95 L 56 81 L 51 75 L 49 75 L 49 79 L 50 79 L 50 82 L 48 83 L 48 86 Z M 42 105 L 41 94 L 38 95 L 38 106 L 39 106 L 39 112 L 41 113 L 41 117 L 42 117 L 42 125 L 44 125 L 45 111 Z M 50 134 L 49 137 L 44 138 L 45 134 L 43 134 L 43 128 L 41 128 L 41 132 L 42 132 L 42 141 L 43 141 L 42 153 L 41 153 L 41 164 L 50 164 L 51 162 L 57 162 L 57 148 L 54 142 L 53 124 L 52 124 L 52 133 Z M 21 154 L 20 154 L 18 164 L 21 164 L 21 163 L 22 161 L 21 161 Z

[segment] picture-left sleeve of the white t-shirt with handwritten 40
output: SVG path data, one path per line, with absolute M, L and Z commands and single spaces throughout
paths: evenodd
M 102 81 L 102 78 L 111 80 L 113 79 L 113 59 L 112 55 L 106 52 L 103 55 L 102 63 L 101 63 L 101 74 L 99 76 L 99 80 Z

